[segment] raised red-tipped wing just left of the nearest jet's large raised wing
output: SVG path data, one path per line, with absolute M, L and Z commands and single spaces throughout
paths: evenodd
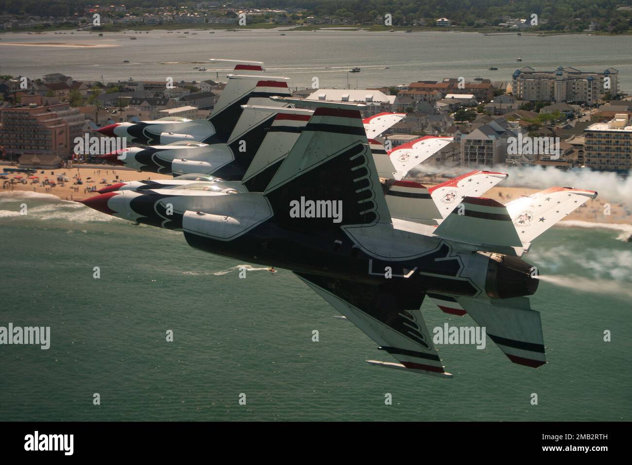
M 268 108 L 250 107 L 248 108 Z M 247 111 L 247 110 L 246 110 Z M 267 128 L 265 138 L 252 159 L 241 183 L 250 192 L 263 192 L 270 183 L 274 173 L 292 149 L 301 135 L 303 128 L 312 117 L 313 110 L 283 108 L 278 109 Z

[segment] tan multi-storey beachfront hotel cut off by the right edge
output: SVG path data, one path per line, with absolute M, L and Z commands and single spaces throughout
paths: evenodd
M 628 171 L 632 168 L 632 116 L 619 113 L 607 123 L 584 130 L 584 158 L 593 170 Z

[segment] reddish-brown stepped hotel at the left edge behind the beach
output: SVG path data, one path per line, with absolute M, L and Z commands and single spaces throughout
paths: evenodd
M 30 104 L 0 109 L 0 121 L 0 146 L 4 148 L 4 157 L 20 158 L 22 163 L 23 159 L 69 159 L 75 147 L 75 137 L 83 136 L 85 116 L 78 109 L 70 108 L 68 103 Z M 42 166 L 48 167 L 46 163 Z

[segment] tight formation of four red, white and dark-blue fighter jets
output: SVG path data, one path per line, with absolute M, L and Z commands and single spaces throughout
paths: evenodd
M 292 271 L 396 362 L 450 377 L 420 307 L 470 317 L 513 363 L 546 363 L 529 295 L 532 241 L 597 192 L 550 187 L 507 204 L 484 197 L 506 173 L 476 170 L 425 187 L 415 170 L 449 138 L 394 149 L 405 115 L 363 119 L 364 104 L 295 99 L 287 78 L 240 62 L 206 120 L 99 128 L 138 146 L 110 163 L 173 179 L 116 183 L 82 201 L 102 213 L 183 232 L 193 248 Z M 300 106 L 300 108 L 298 108 Z

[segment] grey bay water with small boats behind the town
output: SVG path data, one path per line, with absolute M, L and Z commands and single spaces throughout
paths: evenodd
M 291 78 L 292 87 L 365 89 L 381 85 L 409 84 L 416 80 L 445 77 L 475 77 L 511 80 L 513 71 L 523 66 L 554 70 L 573 66 L 582 71 L 619 70 L 621 90 L 632 92 L 632 36 L 589 36 L 585 34 L 537 37 L 531 35 L 483 35 L 471 32 L 365 32 L 319 30 L 279 35 L 276 30 L 198 30 L 197 35 L 123 32 L 97 34 L 75 32 L 59 35 L 28 35 L 25 32 L 1 34 L 2 73 L 38 78 L 59 72 L 75 79 L 116 82 L 130 77 L 165 81 L 225 80 L 232 68 L 205 65 L 211 71 L 193 70 L 186 61 L 208 63 L 209 58 L 238 58 L 264 61 L 270 75 Z M 62 48 L 10 46 L 24 44 L 69 43 L 107 44 L 103 48 Z M 522 58 L 523 61 L 516 61 Z M 123 63 L 128 60 L 130 63 Z M 162 64 L 169 63 L 169 64 Z M 331 68 L 325 68 L 331 66 Z M 359 66 L 360 73 L 348 74 Z M 489 67 L 498 68 L 490 71 Z M 387 68 L 388 67 L 388 68 Z M 386 69 L 387 68 L 387 69 Z M 216 71 L 217 70 L 217 71 Z

